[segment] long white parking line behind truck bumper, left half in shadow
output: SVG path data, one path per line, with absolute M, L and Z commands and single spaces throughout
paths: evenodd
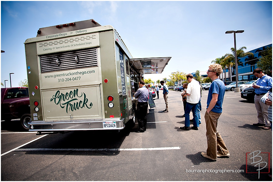
M 139 150 L 180 150 L 181 147 L 155 147 L 155 148 L 129 148 L 129 149 L 52 149 L 52 148 L 33 148 L 16 149 L 15 151 L 139 151 Z

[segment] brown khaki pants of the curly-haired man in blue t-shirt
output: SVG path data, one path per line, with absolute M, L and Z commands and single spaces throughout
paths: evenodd
M 218 118 L 221 113 L 210 112 L 205 113 L 206 129 L 207 129 L 207 155 L 213 159 L 217 159 L 217 151 L 221 154 L 229 153 L 224 140 L 220 133 L 216 130 Z

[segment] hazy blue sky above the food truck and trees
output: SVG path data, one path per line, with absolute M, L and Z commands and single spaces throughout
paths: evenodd
M 1 1 L 1 82 L 27 79 L 24 42 L 42 27 L 94 19 L 112 25 L 133 58 L 172 57 L 162 74 L 205 71 L 236 46 L 250 51 L 272 43 L 271 1 Z

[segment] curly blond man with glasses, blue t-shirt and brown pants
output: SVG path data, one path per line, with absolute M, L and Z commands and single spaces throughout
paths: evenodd
M 211 78 L 212 83 L 207 96 L 207 111 L 205 113 L 207 152 L 201 152 L 201 155 L 211 160 L 230 156 L 224 140 L 216 129 L 218 118 L 222 113 L 225 94 L 225 84 L 218 78 L 222 72 L 222 66 L 219 64 L 212 64 L 207 70 L 207 77 Z

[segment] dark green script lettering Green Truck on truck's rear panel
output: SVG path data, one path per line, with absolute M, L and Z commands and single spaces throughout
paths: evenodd
M 90 104 L 88 104 L 88 99 L 86 98 L 85 93 L 81 93 L 81 95 L 79 96 L 78 93 L 78 89 L 74 89 L 73 91 L 70 91 L 69 93 L 60 93 L 60 91 L 58 90 L 55 95 L 52 96 L 52 98 L 50 99 L 50 102 L 54 100 L 54 103 L 56 105 L 60 105 L 61 108 L 65 108 L 66 107 L 66 113 L 68 113 L 68 111 L 75 111 L 75 110 L 79 110 L 80 108 L 88 108 L 91 109 L 91 107 L 93 106 L 92 102 L 90 102 Z M 83 97 L 83 98 L 81 98 Z M 82 99 L 82 100 L 81 100 Z

